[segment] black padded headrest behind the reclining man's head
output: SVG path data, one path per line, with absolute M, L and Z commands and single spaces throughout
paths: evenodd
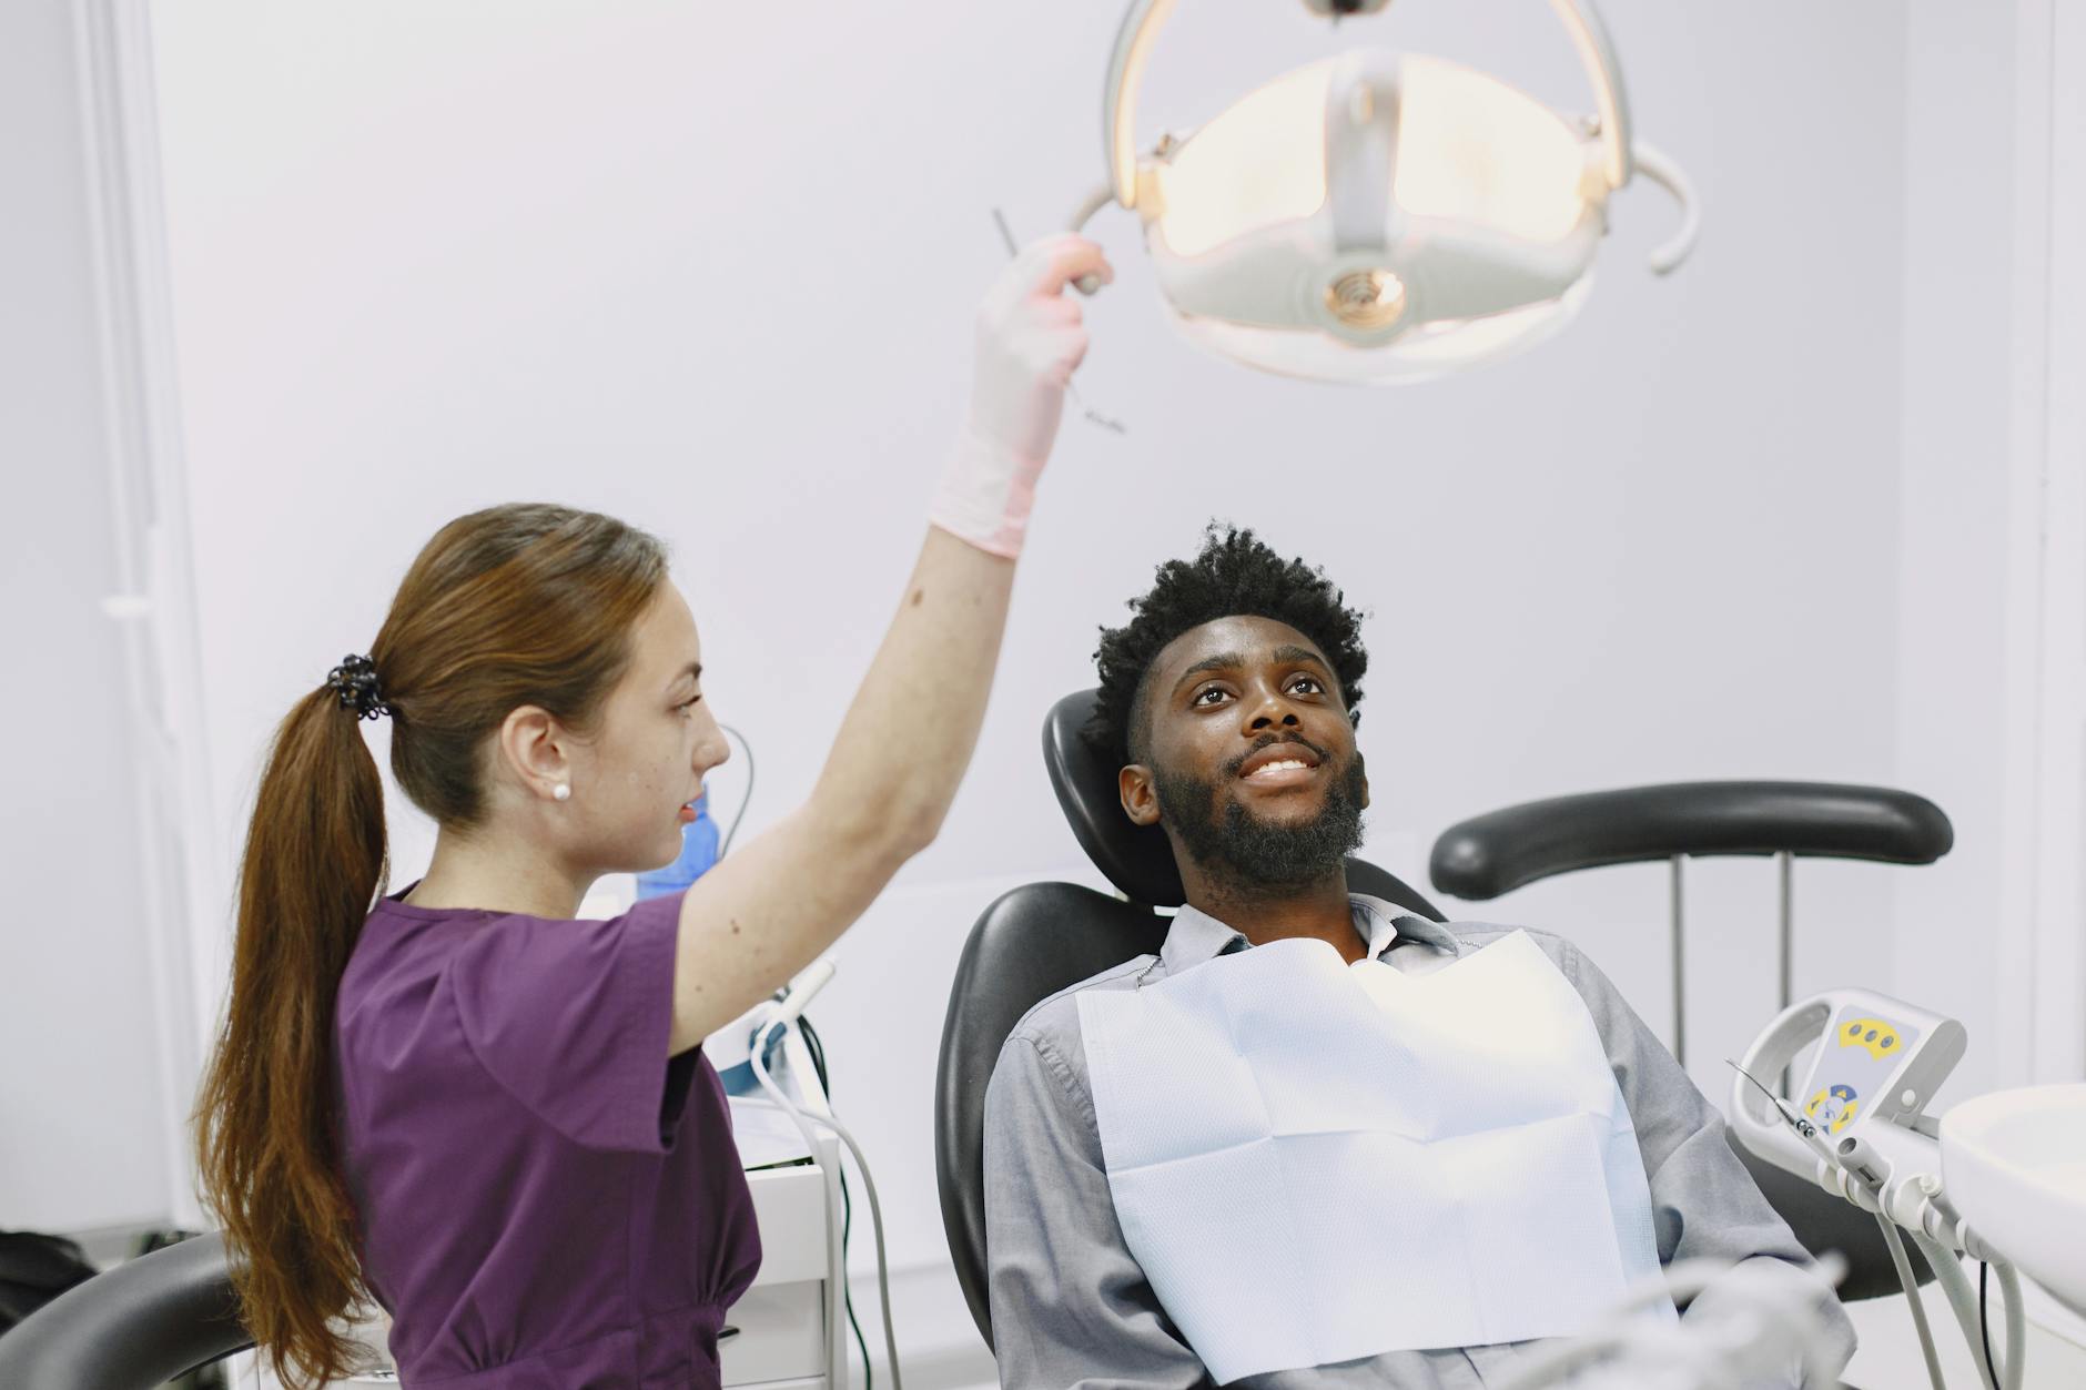
M 1116 791 L 1118 768 L 1112 758 L 1095 751 L 1083 733 L 1093 718 L 1097 695 L 1099 691 L 1066 695 L 1043 720 L 1043 766 L 1049 768 L 1051 791 L 1058 793 L 1064 818 L 1072 822 L 1078 847 L 1124 897 L 1151 908 L 1179 908 L 1187 891 L 1181 887 L 1181 870 L 1174 868 L 1166 831 L 1156 824 L 1133 824 L 1122 814 L 1122 795 Z M 1348 860 L 1348 891 L 1393 902 L 1435 922 L 1444 920 L 1427 897 L 1366 860 Z

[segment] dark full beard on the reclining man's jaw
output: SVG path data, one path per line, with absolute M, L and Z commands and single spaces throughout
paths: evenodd
M 1181 847 L 1212 879 L 1260 895 L 1270 887 L 1304 887 L 1345 872 L 1362 847 L 1362 756 L 1325 789 L 1325 808 L 1304 824 L 1260 820 L 1233 799 L 1216 814 L 1216 783 L 1160 772 L 1154 791 L 1160 816 Z

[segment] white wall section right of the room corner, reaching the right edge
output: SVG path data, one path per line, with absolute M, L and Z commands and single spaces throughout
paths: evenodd
M 1948 1096 L 2086 1075 L 2082 75 L 2061 0 L 1909 8 L 1896 764 L 1957 849 L 1894 975 L 1969 1027 Z

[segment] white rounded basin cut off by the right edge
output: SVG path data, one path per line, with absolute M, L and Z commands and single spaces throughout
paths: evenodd
M 1992 1092 L 1948 1110 L 1942 1185 L 1978 1236 L 2086 1317 L 2086 1083 Z

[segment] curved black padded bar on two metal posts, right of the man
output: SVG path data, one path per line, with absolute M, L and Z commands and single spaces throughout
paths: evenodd
M 1675 856 L 1796 854 L 1932 864 L 1955 829 L 1934 801 L 1840 783 L 1667 783 L 1525 801 L 1435 841 L 1435 889 L 1485 900 L 1537 879 Z

